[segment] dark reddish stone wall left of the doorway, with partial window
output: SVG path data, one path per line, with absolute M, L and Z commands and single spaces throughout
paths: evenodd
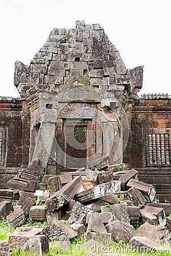
M 0 187 L 28 164 L 30 121 L 20 98 L 0 97 Z M 23 112 L 22 112 L 23 110 Z M 28 113 L 29 114 L 29 113 Z

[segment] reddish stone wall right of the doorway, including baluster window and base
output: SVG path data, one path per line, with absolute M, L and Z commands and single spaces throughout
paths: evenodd
M 147 94 L 134 100 L 124 162 L 155 185 L 160 199 L 171 193 L 171 98 Z M 169 196 L 167 196 L 169 198 Z

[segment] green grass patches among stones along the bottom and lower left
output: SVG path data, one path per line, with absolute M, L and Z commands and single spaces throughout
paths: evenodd
M 35 224 L 35 225 L 34 225 Z M 42 225 L 47 225 L 46 223 L 42 224 L 40 222 L 32 223 L 31 221 L 27 222 L 27 226 L 38 226 L 38 227 L 43 227 Z M 19 228 L 10 228 L 10 226 L 7 224 L 7 221 L 0 221 L 0 240 L 8 241 L 9 236 L 12 233 L 19 232 Z M 64 249 L 61 249 L 59 246 L 59 242 L 49 242 L 49 253 L 43 256 L 56 256 L 56 255 L 61 255 L 61 256 L 81 256 L 84 254 L 89 254 L 90 249 L 86 250 L 85 247 L 82 249 L 79 249 L 79 246 L 84 244 L 84 235 L 78 236 L 77 238 L 74 238 L 73 241 L 70 244 L 70 251 L 65 251 Z M 116 241 L 112 240 L 110 246 L 107 246 L 106 248 L 101 246 L 101 249 L 98 249 L 96 247 L 96 250 L 93 249 L 93 253 L 97 254 L 120 254 L 120 255 L 126 255 L 126 256 L 169 256 L 171 250 L 169 253 L 162 253 L 160 251 L 159 253 L 137 253 L 137 251 L 131 251 L 128 249 L 127 251 L 127 245 L 123 242 L 120 241 L 117 243 Z M 26 253 L 23 250 L 20 251 L 12 251 L 11 256 L 39 256 L 35 255 L 32 253 Z

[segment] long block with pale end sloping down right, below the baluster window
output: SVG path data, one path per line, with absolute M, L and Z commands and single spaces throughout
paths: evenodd
M 139 189 L 149 203 L 151 203 L 155 199 L 156 191 L 153 185 L 151 184 L 144 183 L 143 181 L 139 180 L 130 179 L 127 183 L 127 187 L 135 187 Z

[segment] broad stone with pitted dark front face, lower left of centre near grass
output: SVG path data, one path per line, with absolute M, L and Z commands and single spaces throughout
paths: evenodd
M 43 234 L 48 237 L 49 241 L 72 240 L 72 238 L 78 235 L 64 220 L 59 220 L 51 225 L 45 226 Z

